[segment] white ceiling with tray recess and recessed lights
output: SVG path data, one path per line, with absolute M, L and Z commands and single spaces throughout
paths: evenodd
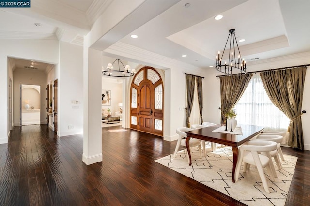
M 110 9 L 113 1 L 122 2 L 31 0 L 30 9 L 1 8 L 0 38 L 58 39 L 81 44 L 81 37 Z M 143 3 L 152 1 L 155 0 Z M 124 29 L 125 35 L 118 39 L 114 36 L 112 40 L 112 32 L 108 32 L 101 43 L 111 39 L 112 43 L 128 44 L 201 68 L 214 65 L 217 51 L 225 46 L 229 29 L 235 29 L 237 39 L 246 39 L 238 44 L 248 62 L 254 58 L 277 58 L 310 51 L 310 0 L 171 0 L 170 5 L 165 6 L 163 1 L 156 2 L 152 4 L 152 14 L 157 12 L 154 18 L 130 22 L 132 16 L 128 15 L 123 23 L 138 26 L 130 31 Z M 186 3 L 190 3 L 190 7 L 185 7 Z M 138 7 L 134 12 L 140 12 Z M 150 10 L 143 12 L 141 18 L 150 13 Z M 214 16 L 218 14 L 224 17 L 216 21 Z M 122 27 L 117 29 L 122 32 Z M 133 39 L 131 34 L 139 37 Z

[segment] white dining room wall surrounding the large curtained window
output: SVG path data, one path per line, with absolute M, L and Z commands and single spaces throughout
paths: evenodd
M 253 62 L 247 62 L 248 72 L 261 71 L 273 68 L 282 68 L 289 66 L 298 66 L 310 63 L 310 52 L 275 58 L 265 59 Z M 222 73 L 217 72 L 215 69 L 205 72 L 204 79 L 204 106 L 203 106 L 203 119 L 204 121 L 220 123 L 220 82 L 217 75 Z M 304 147 L 310 150 L 310 70 L 307 69 L 304 85 L 303 104 L 302 110 L 307 113 L 302 116 L 303 134 L 304 134 Z

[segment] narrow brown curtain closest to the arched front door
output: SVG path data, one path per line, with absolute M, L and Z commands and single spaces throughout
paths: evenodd
M 187 94 L 186 127 L 189 128 L 190 128 L 189 117 L 193 108 L 194 91 L 195 91 L 195 76 L 186 74 L 186 94 Z

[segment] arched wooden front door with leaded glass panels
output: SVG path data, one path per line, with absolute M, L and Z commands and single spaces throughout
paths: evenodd
M 143 67 L 130 91 L 130 128 L 163 136 L 164 87 L 159 73 Z

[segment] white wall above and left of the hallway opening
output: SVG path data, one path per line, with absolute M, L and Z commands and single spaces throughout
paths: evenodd
M 0 114 L 9 114 L 8 85 L 12 71 L 8 67 L 7 58 L 32 59 L 55 64 L 58 62 L 58 41 L 2 39 L 0 47 L 2 48 L 0 49 L 0 99 L 6 100 L 0 101 Z M 12 80 L 14 82 L 14 79 Z M 8 136 L 8 115 L 3 115 L 0 117 L 0 143 L 6 143 Z

